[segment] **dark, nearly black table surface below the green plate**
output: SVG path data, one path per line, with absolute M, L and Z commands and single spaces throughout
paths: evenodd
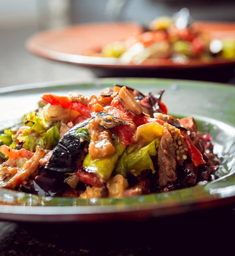
M 0 223 L 0 255 L 149 256 L 234 253 L 234 206 L 141 222 Z M 232 251 L 231 251 L 232 250 Z M 216 254 L 215 254 L 216 255 Z

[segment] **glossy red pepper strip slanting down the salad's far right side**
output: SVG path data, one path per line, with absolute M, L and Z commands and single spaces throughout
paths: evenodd
M 185 143 L 187 144 L 187 147 L 189 149 L 189 155 L 191 157 L 191 160 L 194 166 L 197 167 L 197 166 L 200 166 L 201 164 L 206 163 L 203 160 L 203 155 L 201 154 L 201 152 L 193 145 L 187 132 L 186 131 L 180 131 L 180 132 L 184 137 Z

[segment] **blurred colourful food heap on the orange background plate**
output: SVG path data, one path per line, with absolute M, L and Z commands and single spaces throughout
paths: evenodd
M 101 51 L 90 50 L 86 55 L 119 58 L 123 64 L 141 64 L 147 59 L 184 62 L 195 58 L 235 58 L 235 38 L 212 39 L 208 33 L 195 29 L 186 8 L 173 17 L 153 20 L 148 30 L 126 41 L 104 45 Z

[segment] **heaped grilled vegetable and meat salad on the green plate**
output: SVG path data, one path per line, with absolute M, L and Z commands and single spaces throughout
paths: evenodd
M 220 161 L 192 117 L 114 85 L 89 98 L 44 94 L 0 134 L 0 187 L 41 196 L 122 198 L 210 181 Z

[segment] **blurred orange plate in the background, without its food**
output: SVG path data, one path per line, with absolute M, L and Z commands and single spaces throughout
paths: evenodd
M 235 38 L 235 23 L 195 22 L 194 26 L 209 33 L 212 38 Z M 61 30 L 41 32 L 29 38 L 26 48 L 44 58 L 72 64 L 109 69 L 185 69 L 235 64 L 235 60 L 212 58 L 192 59 L 183 63 L 171 59 L 146 60 L 142 64 L 122 64 L 118 58 L 85 56 L 89 49 L 99 50 L 113 41 L 124 41 L 142 33 L 142 27 L 135 23 L 95 23 L 70 26 Z

